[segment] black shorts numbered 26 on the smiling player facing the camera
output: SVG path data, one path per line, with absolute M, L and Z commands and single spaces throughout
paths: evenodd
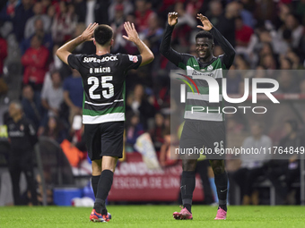
M 181 134 L 179 154 L 182 159 L 224 159 L 224 122 L 186 121 Z

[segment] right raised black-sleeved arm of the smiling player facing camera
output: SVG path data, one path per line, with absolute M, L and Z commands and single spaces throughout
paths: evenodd
M 210 31 L 213 35 L 213 38 L 217 40 L 218 44 L 222 46 L 222 50 L 224 52 L 223 55 L 223 63 L 227 68 L 231 67 L 231 64 L 234 61 L 235 57 L 235 50 L 234 47 L 231 46 L 229 41 L 226 38 L 222 37 L 222 34 L 219 30 L 213 27 L 212 23 L 201 13 L 197 14 L 197 19 L 199 19 L 202 22 L 202 26 L 198 25 L 197 28 Z

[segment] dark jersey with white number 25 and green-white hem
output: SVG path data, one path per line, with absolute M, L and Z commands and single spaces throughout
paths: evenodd
M 83 123 L 125 121 L 126 72 L 136 69 L 141 55 L 69 55 L 69 65 L 83 79 Z

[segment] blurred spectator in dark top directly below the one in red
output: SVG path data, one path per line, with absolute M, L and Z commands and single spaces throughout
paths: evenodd
M 39 129 L 42 120 L 42 106 L 39 95 L 34 93 L 30 85 L 26 85 L 22 89 L 22 108 L 25 117 L 27 117 Z

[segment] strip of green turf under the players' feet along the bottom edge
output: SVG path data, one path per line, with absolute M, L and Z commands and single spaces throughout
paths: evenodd
M 229 207 L 226 221 L 214 221 L 216 207 L 194 206 L 194 220 L 177 221 L 178 206 L 109 206 L 109 223 L 91 223 L 88 207 L 0 207 L 0 227 L 305 227 L 305 207 Z

